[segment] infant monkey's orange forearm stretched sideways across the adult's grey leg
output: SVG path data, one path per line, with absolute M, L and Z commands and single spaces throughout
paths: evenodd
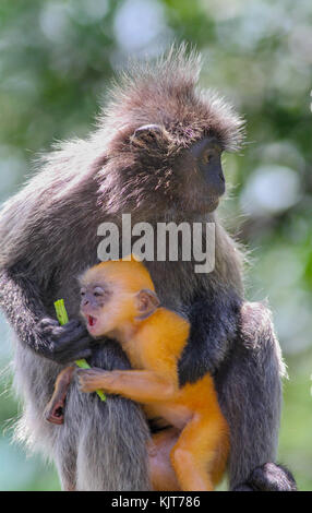
M 101 369 L 77 371 L 82 392 L 103 389 L 110 394 L 120 394 L 137 403 L 155 403 L 173 398 L 176 386 L 169 380 L 148 370 Z

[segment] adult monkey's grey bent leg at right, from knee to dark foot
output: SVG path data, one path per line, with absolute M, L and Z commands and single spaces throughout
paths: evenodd
M 261 303 L 244 302 L 231 354 L 215 375 L 230 427 L 232 490 L 296 490 L 292 475 L 275 463 L 284 374 L 269 310 Z

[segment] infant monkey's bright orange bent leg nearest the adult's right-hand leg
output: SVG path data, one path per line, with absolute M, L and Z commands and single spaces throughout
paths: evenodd
M 181 490 L 213 491 L 224 474 L 227 456 L 226 425 L 208 415 L 195 416 L 170 454 Z

